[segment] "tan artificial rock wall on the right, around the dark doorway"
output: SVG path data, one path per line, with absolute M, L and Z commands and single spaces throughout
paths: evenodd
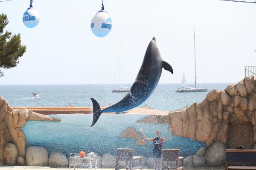
M 230 124 L 249 124 L 252 128 L 251 140 L 255 143 L 254 77 L 245 77 L 236 85 L 228 85 L 223 91 L 214 89 L 201 103 L 193 103 L 186 111 L 169 113 L 169 124 L 173 127 L 175 135 L 205 142 L 207 147 L 213 142 L 227 145 Z

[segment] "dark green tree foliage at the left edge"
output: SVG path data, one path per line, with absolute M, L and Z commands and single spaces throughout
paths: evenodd
M 19 63 L 19 58 L 26 52 L 26 45 L 21 45 L 20 34 L 12 36 L 3 29 L 9 23 L 6 14 L 0 14 L 0 68 L 13 68 Z M 0 77 L 3 77 L 0 70 Z

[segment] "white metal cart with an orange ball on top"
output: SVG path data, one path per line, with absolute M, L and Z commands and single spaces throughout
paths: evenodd
M 79 156 L 79 153 L 70 153 L 70 161 L 69 161 L 69 169 L 70 167 L 73 167 L 74 170 L 76 170 L 76 166 L 79 167 L 87 167 L 97 170 L 98 164 L 96 159 L 96 154 L 91 152 L 88 153 L 88 155 L 81 157 Z M 72 168 L 72 169 L 73 169 Z

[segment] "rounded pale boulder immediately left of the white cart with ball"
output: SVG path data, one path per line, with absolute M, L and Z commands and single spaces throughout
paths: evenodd
M 49 156 L 50 167 L 67 167 L 67 157 L 63 153 L 51 152 Z

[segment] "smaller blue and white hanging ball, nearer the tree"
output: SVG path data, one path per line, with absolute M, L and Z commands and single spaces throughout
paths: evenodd
M 30 7 L 26 10 L 26 12 L 23 14 L 23 23 L 28 28 L 34 28 L 39 23 L 39 15 L 38 12 Z

